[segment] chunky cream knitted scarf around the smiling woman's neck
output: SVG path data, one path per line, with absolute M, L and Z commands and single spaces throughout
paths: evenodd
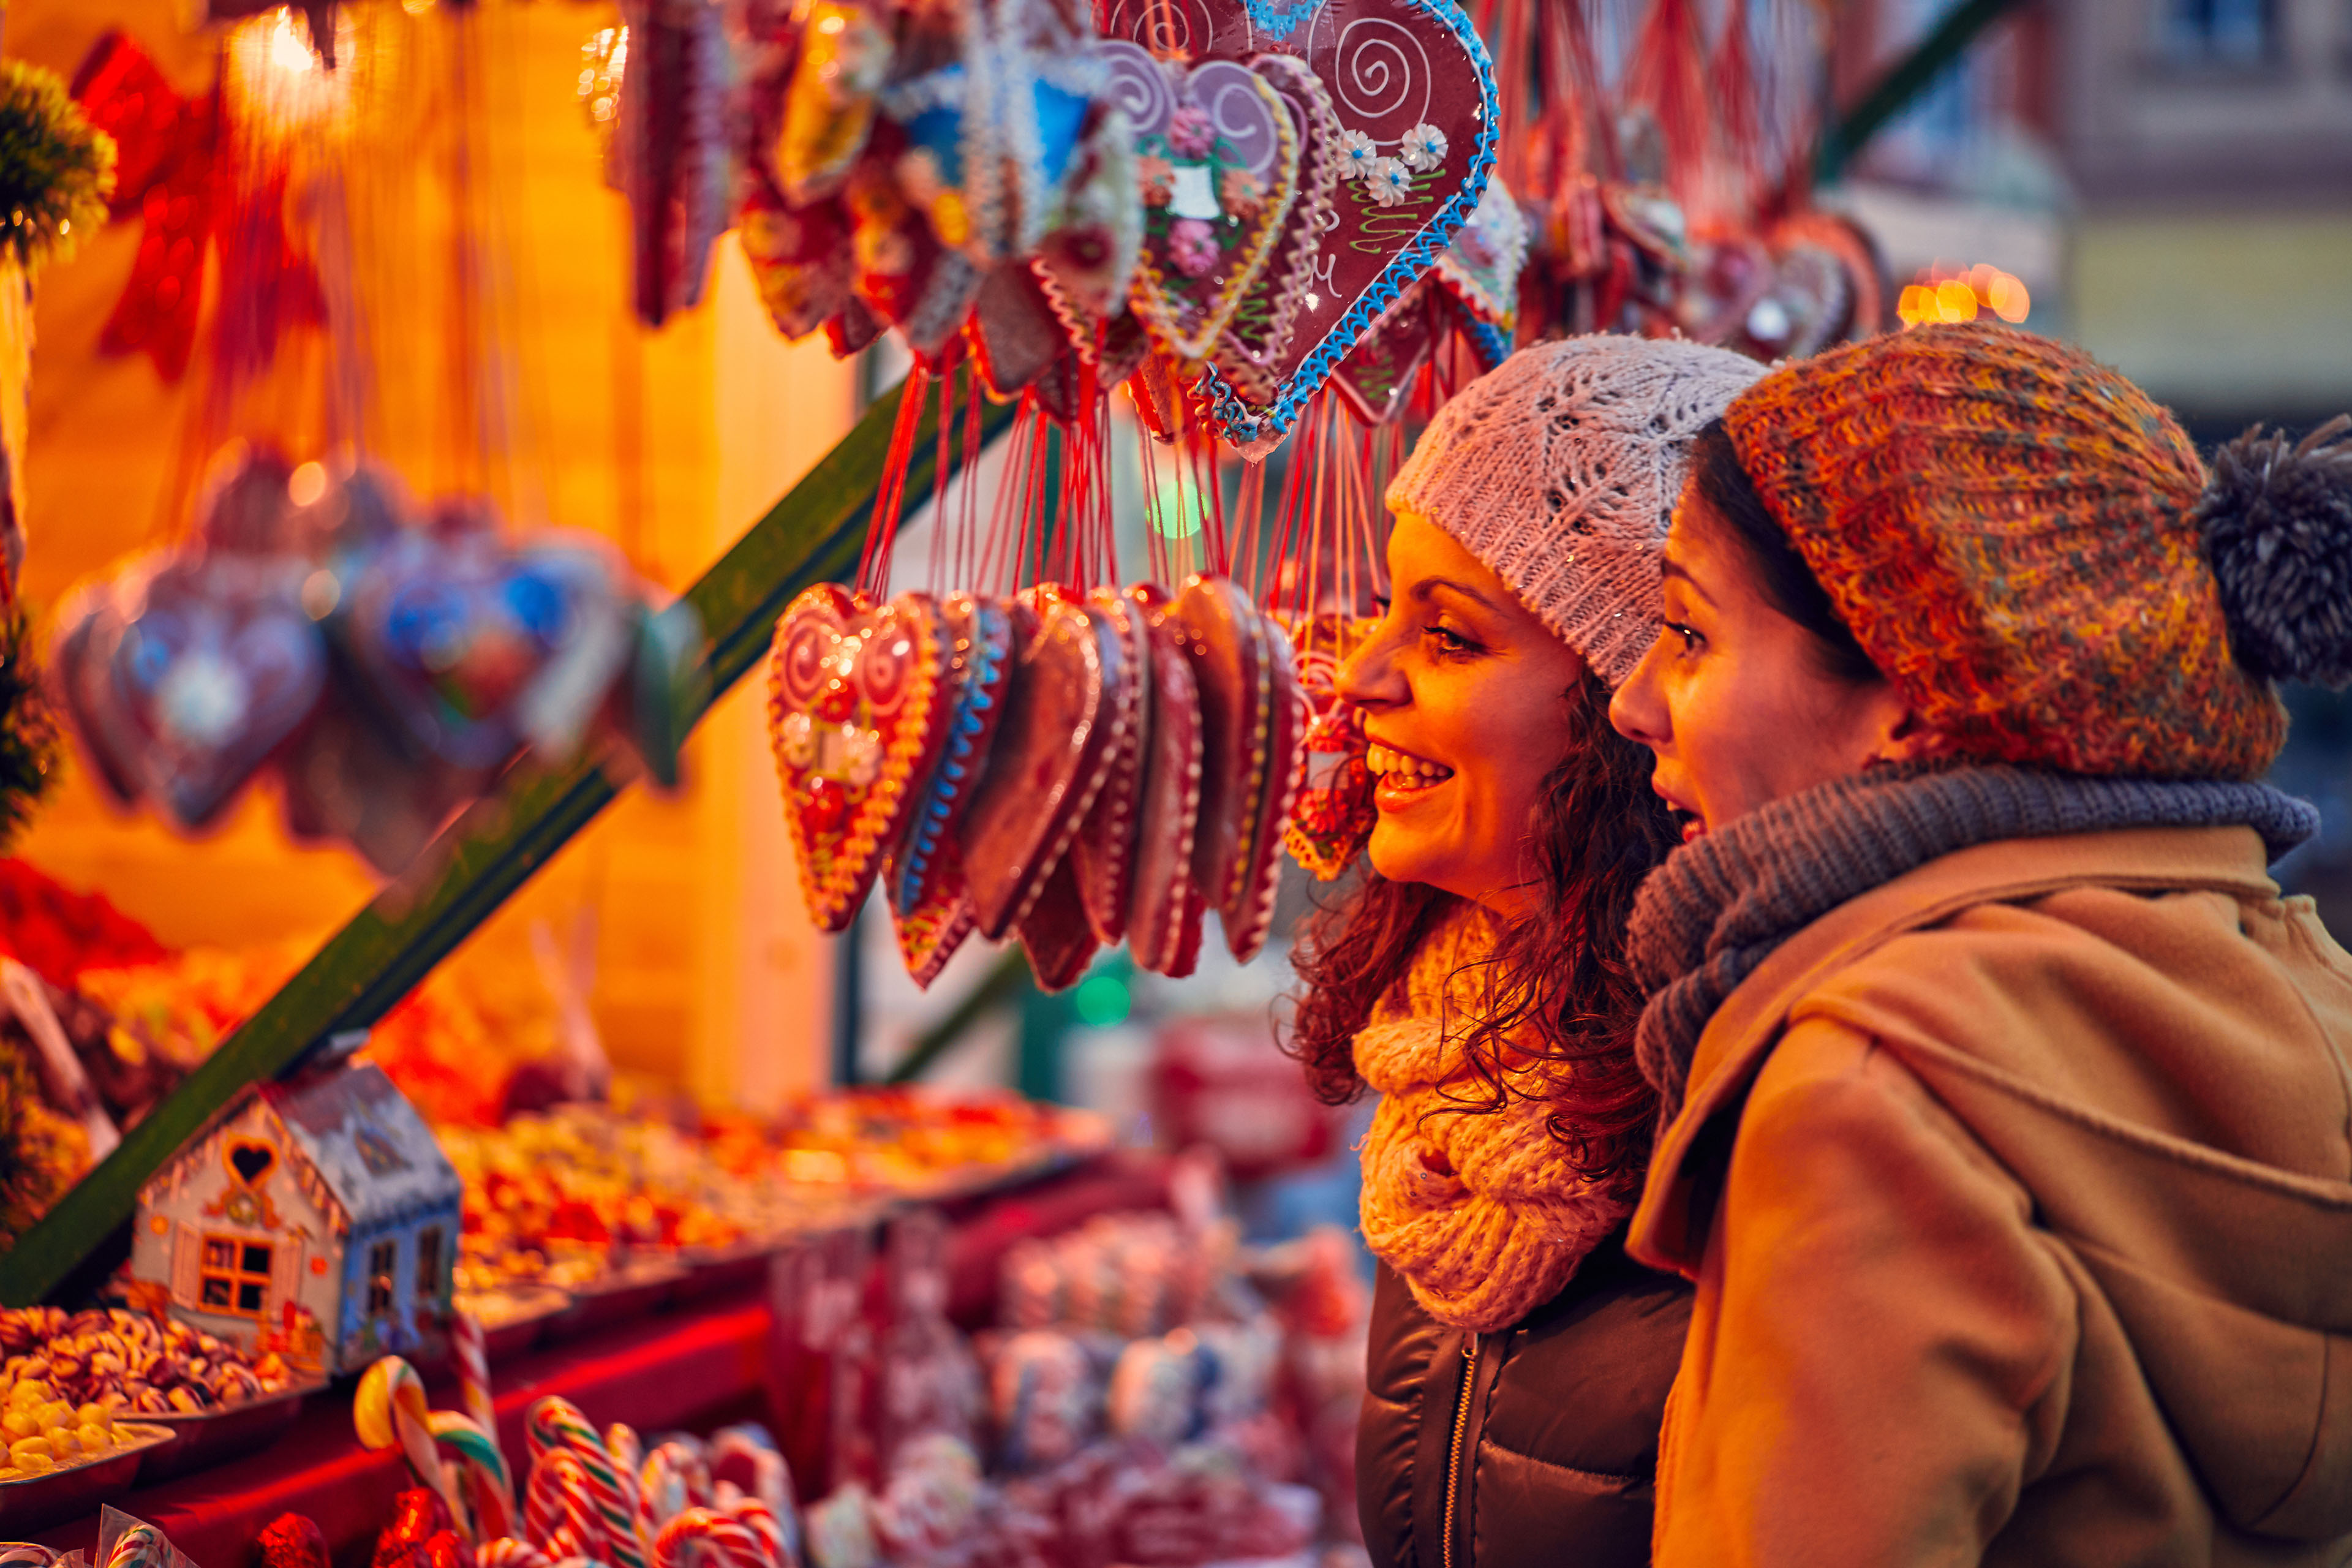
M 1503 1107 L 1477 1110 L 1486 1086 L 1461 1037 L 1484 1004 L 1477 964 L 1494 940 L 1494 917 L 1465 905 L 1414 954 L 1406 1004 L 1383 1001 L 1355 1037 L 1355 1070 L 1381 1093 L 1362 1147 L 1364 1244 L 1423 1312 L 1475 1333 L 1559 1295 L 1635 1197 L 1566 1161 L 1541 1074 L 1508 1072 Z

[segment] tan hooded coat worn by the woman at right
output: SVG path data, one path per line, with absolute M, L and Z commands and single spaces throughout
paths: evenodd
M 1658 1568 L 2352 1561 L 2352 957 L 2246 827 L 1983 844 L 1715 1013 Z

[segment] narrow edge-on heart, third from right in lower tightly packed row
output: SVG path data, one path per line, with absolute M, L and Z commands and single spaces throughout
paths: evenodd
M 1192 879 L 1200 827 L 1202 715 L 1183 623 L 1152 583 L 1127 597 L 1150 635 L 1150 717 L 1145 722 L 1143 797 L 1136 806 L 1136 863 L 1127 896 L 1127 947 L 1152 973 L 1183 978 L 1200 959 L 1204 900 Z

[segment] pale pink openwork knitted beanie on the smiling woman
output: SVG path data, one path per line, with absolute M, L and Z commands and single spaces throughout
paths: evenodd
M 1764 367 L 1679 339 L 1536 343 L 1446 407 L 1388 487 L 1621 684 L 1656 637 L 1691 437 Z

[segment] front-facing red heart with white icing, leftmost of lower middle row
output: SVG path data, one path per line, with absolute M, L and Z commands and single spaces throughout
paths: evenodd
M 950 658 L 948 625 L 922 592 L 866 609 L 821 583 L 776 621 L 769 738 L 818 931 L 849 926 L 938 764 L 955 712 Z

